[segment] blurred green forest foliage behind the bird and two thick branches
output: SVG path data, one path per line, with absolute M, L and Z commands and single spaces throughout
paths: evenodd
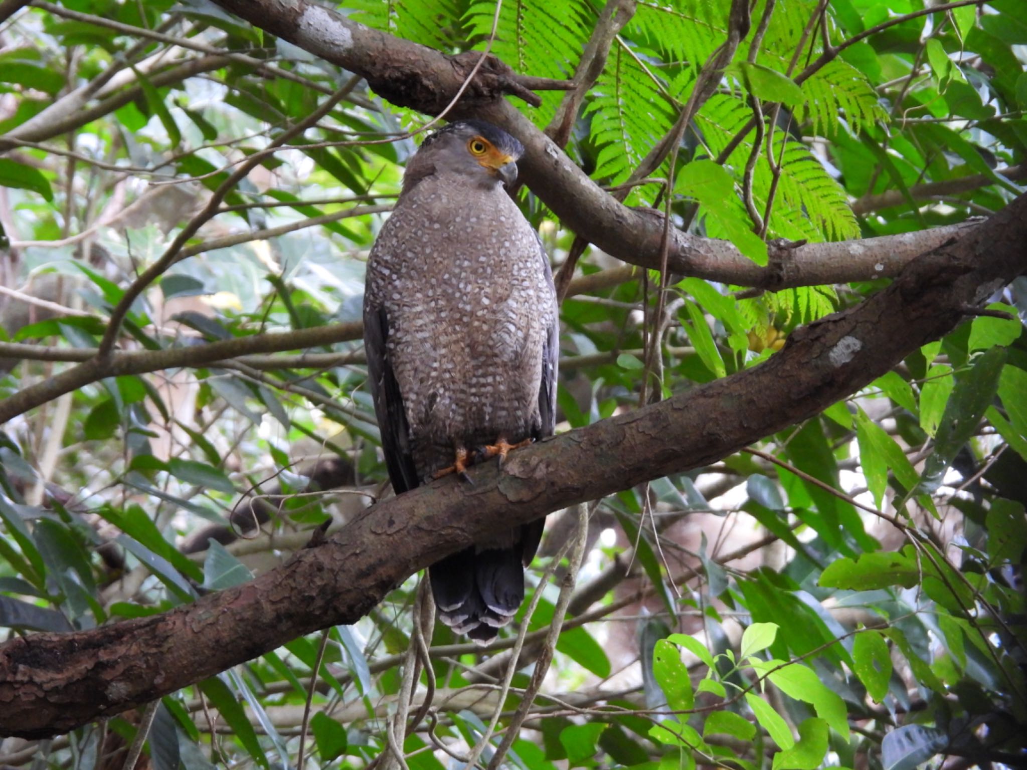
M 567 295 L 558 432 L 759 365 L 1027 177 L 1023 0 L 755 0 L 730 48 L 727 0 L 325 7 L 536 78 L 511 104 L 695 243 L 892 236 L 765 291 L 625 265 L 522 187 Z M 165 612 L 390 494 L 364 267 L 427 120 L 205 0 L 0 2 L 0 637 Z M 491 647 L 415 622 L 415 575 L 0 765 L 1027 767 L 1027 278 L 989 292 L 751 452 L 550 515 Z

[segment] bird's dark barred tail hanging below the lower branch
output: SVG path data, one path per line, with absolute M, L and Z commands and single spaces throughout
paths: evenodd
M 440 619 L 481 644 L 517 614 L 524 600 L 523 549 L 467 548 L 428 570 Z

